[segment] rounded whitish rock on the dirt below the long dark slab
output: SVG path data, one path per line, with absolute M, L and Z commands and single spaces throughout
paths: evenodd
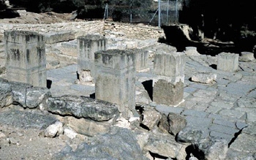
M 56 121 L 45 129 L 45 137 L 57 137 L 63 134 L 63 123 Z

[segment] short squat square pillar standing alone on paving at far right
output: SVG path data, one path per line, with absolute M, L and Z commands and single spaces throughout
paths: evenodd
M 235 53 L 219 53 L 217 70 L 235 72 L 238 69 L 239 55 Z

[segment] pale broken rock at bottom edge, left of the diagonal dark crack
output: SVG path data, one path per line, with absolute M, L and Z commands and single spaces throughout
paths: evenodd
M 199 151 L 203 151 L 205 159 L 225 159 L 227 155 L 227 141 L 223 139 L 206 138 L 194 144 Z

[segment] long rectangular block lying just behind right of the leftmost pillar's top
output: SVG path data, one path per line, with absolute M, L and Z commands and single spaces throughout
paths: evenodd
M 53 44 L 75 39 L 74 31 L 56 31 L 44 34 L 44 36 L 46 44 Z

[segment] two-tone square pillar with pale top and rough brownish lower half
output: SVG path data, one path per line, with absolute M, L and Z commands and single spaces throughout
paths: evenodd
M 154 82 L 153 101 L 176 106 L 183 101 L 185 62 L 184 53 L 171 48 L 162 46 L 154 57 L 154 73 L 159 75 L 159 80 Z

